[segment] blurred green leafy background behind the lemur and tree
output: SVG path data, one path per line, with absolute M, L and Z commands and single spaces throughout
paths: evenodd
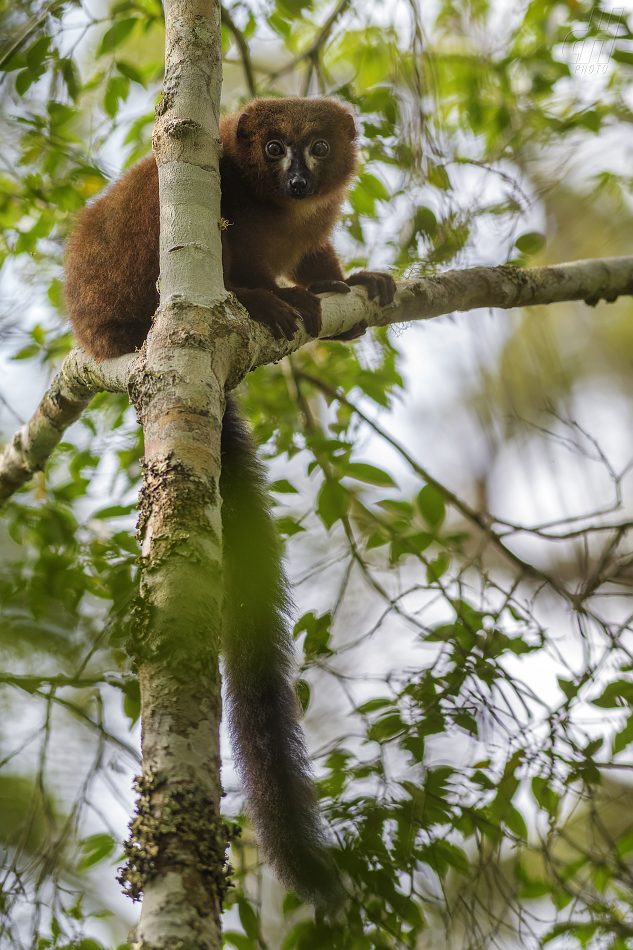
M 350 267 L 406 277 L 630 249 L 630 175 L 608 149 L 589 171 L 574 164 L 597 136 L 627 134 L 626 19 L 571 0 L 506 7 L 225 9 L 227 108 L 320 91 L 358 113 L 362 167 L 339 235 Z M 92 10 L 0 0 L 2 341 L 7 365 L 38 380 L 72 343 L 59 265 L 73 216 L 149 148 L 159 94 L 158 0 Z M 584 86 L 583 37 L 609 58 Z M 277 479 L 304 608 L 299 693 L 352 900 L 329 921 L 287 895 L 275 918 L 244 822 L 228 946 L 631 945 L 631 793 L 606 777 L 633 742 L 628 459 L 612 463 L 575 418 L 601 380 L 630 400 L 629 311 L 525 313 L 495 338 L 453 393 L 484 461 L 445 483 L 435 446 L 393 435 L 407 364 L 386 331 L 306 348 L 243 385 Z M 458 422 L 442 421 L 442 442 L 459 442 Z M 0 942 L 97 950 L 126 929 L 121 904 L 121 920 L 104 916 L 116 902 L 103 882 L 138 758 L 124 644 L 142 435 L 126 401 L 104 396 L 68 439 L 7 507 L 0 551 Z M 527 527 L 493 517 L 512 510 L 495 488 L 509 451 L 537 468 L 571 453 L 563 493 L 591 466 L 602 481 L 571 515 L 561 503 Z

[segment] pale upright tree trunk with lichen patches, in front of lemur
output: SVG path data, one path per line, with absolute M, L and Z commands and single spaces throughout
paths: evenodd
M 167 0 L 165 13 L 166 75 L 154 133 L 161 302 L 131 386 L 145 432 L 131 640 L 143 776 L 122 880 L 132 896 L 143 893 L 134 946 L 219 950 L 227 844 L 219 813 L 226 364 L 218 335 L 227 325 L 218 225 L 220 3 Z

